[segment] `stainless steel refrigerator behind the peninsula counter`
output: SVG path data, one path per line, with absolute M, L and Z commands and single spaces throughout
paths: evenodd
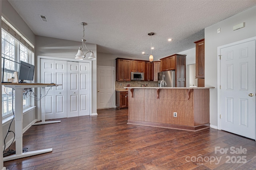
M 158 87 L 175 87 L 175 71 L 158 72 Z

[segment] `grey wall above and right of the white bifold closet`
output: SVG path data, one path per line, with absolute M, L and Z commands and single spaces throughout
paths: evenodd
M 60 57 L 74 59 L 82 42 L 69 41 L 51 37 L 36 36 L 36 57 Z M 96 60 L 92 60 L 92 114 L 97 113 L 97 49 L 95 44 L 86 43 L 88 49 L 93 50 Z M 87 54 L 89 55 L 89 53 Z M 37 61 L 37 59 L 36 59 Z M 37 65 L 37 63 L 35 64 Z M 37 75 L 37 72 L 35 72 Z M 39 81 L 39 80 L 36 80 Z

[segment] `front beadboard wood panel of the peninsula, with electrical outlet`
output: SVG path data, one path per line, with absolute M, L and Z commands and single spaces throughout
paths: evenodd
M 159 98 L 157 98 L 159 94 Z M 129 120 L 194 126 L 193 90 L 129 90 Z M 177 112 L 174 117 L 173 112 Z

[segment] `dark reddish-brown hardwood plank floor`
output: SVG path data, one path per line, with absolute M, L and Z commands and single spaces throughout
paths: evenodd
M 98 116 L 32 126 L 23 135 L 23 147 L 53 148 L 52 152 L 6 161 L 4 166 L 9 170 L 256 169 L 253 140 L 212 128 L 190 132 L 127 125 L 127 119 L 127 109 L 103 109 Z M 215 153 L 215 147 L 228 151 Z M 233 153 L 231 147 L 247 152 Z

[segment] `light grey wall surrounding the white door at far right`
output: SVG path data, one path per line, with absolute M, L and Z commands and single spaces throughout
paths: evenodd
M 245 22 L 245 27 L 233 31 L 233 26 Z M 217 29 L 221 33 L 217 34 Z M 204 29 L 205 86 L 210 89 L 210 124 L 217 127 L 217 47 L 256 36 L 256 6 Z

